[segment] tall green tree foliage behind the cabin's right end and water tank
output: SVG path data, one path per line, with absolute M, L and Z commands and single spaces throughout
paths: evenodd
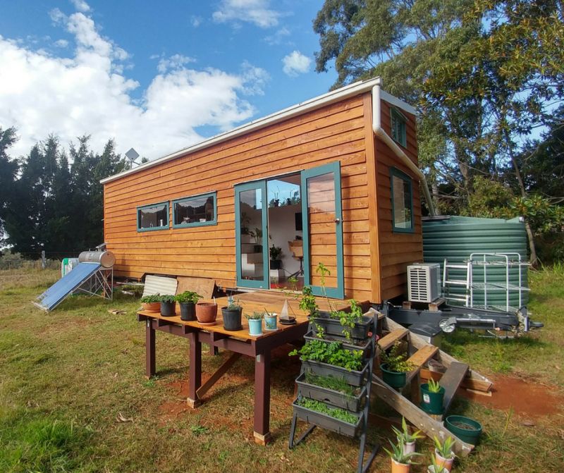
M 317 71 L 334 63 L 335 87 L 380 76 L 417 106 L 419 164 L 440 213 L 521 214 L 532 259 L 534 240 L 562 233 L 560 1 L 326 0 L 314 31 Z M 484 186 L 504 192 L 477 206 Z

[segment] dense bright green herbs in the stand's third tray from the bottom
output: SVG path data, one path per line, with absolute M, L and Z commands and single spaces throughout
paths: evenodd
M 332 364 L 348 371 L 360 371 L 362 368 L 362 351 L 345 350 L 341 342 L 326 343 L 322 340 L 309 340 L 300 350 L 293 350 L 288 355 L 300 355 L 302 362 L 312 360 Z

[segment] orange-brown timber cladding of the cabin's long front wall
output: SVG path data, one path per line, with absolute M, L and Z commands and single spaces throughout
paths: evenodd
M 179 156 L 104 185 L 104 230 L 116 274 L 214 278 L 235 286 L 233 185 L 341 161 L 345 295 L 372 296 L 363 97 L 359 95 Z M 217 194 L 217 225 L 137 233 L 136 207 Z M 172 217 L 170 209 L 169 219 Z M 312 215 L 312 261 L 335 264 L 331 223 Z M 377 274 L 376 274 L 377 277 Z

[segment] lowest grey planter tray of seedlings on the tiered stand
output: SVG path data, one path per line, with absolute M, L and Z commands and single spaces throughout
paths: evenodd
M 293 403 L 295 414 L 308 424 L 314 424 L 324 429 L 354 437 L 360 429 L 362 412 L 352 414 L 338 407 L 329 407 L 324 403 L 309 398 L 298 398 Z

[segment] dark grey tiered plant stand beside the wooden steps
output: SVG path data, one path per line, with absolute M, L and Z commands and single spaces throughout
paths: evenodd
M 319 327 L 324 330 L 324 338 L 317 338 Z M 364 314 L 362 321 L 355 324 L 351 332 L 351 340 L 346 340 L 343 336 L 343 326 L 336 319 L 329 317 L 321 317 L 309 321 L 309 329 L 305 335 L 305 340 L 323 340 L 326 343 L 331 341 L 343 342 L 345 350 L 362 350 L 364 353 L 364 365 L 360 371 L 350 371 L 331 364 L 314 362 L 306 360 L 302 362 L 300 376 L 296 379 L 298 384 L 298 398 L 293 403 L 293 418 L 290 428 L 289 448 L 294 448 L 300 442 L 311 434 L 316 427 L 322 427 L 329 431 L 336 432 L 344 436 L 360 439 L 360 448 L 358 453 L 358 473 L 364 473 L 370 467 L 372 460 L 378 452 L 379 446 L 374 446 L 372 452 L 364 462 L 364 453 L 367 448 L 367 427 L 368 412 L 370 407 L 370 388 L 372 386 L 372 368 L 374 366 L 374 350 L 376 340 L 376 324 L 374 312 L 371 310 Z M 318 376 L 334 376 L 336 378 L 345 379 L 349 386 L 357 388 L 358 393 L 355 396 L 346 395 L 344 393 L 333 391 L 329 388 L 323 388 L 306 381 L 306 373 L 311 372 Z M 329 408 L 340 408 L 348 411 L 357 418 L 355 424 L 350 424 L 341 419 L 336 419 L 327 414 L 309 410 L 306 407 L 298 405 L 298 400 L 309 398 L 324 403 Z M 296 424 L 298 419 L 302 419 L 309 424 L 309 428 L 294 441 Z

